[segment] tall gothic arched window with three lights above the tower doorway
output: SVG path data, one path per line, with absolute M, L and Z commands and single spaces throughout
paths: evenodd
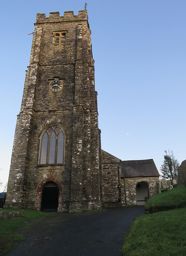
M 64 133 L 57 125 L 49 126 L 41 138 L 39 164 L 63 164 Z

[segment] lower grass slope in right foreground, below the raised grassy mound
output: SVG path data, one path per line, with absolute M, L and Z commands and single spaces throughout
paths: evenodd
M 186 208 L 136 218 L 122 248 L 124 256 L 185 256 Z

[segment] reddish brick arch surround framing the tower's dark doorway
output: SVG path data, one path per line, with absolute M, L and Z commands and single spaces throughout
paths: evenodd
M 36 202 L 35 202 L 35 210 L 40 211 L 41 210 L 41 195 L 42 195 L 42 189 L 43 186 L 49 182 L 49 181 L 53 181 L 55 182 L 55 184 L 57 184 L 58 188 L 59 188 L 59 202 L 58 202 L 58 212 L 62 211 L 62 187 L 61 184 L 59 183 L 58 180 L 56 180 L 55 178 L 46 178 L 45 180 L 43 180 L 39 186 L 37 187 L 37 194 L 36 194 Z

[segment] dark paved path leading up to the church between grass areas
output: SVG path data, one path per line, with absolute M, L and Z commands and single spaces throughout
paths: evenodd
M 8 256 L 119 256 L 123 236 L 143 214 L 137 206 L 47 215 L 29 223 L 31 232 Z

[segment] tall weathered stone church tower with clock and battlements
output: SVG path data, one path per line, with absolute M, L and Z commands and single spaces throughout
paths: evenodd
M 97 93 L 86 10 L 37 14 L 6 205 L 100 210 Z

